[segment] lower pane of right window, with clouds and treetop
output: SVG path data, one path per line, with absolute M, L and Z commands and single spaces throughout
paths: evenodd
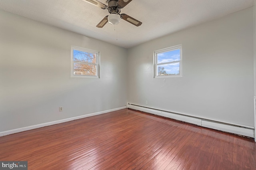
M 180 62 L 158 65 L 157 75 L 180 75 Z

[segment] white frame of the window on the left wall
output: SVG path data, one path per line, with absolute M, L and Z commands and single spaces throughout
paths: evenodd
M 73 50 L 84 51 L 84 52 L 95 53 L 96 54 L 96 64 L 88 63 L 90 65 L 96 65 L 97 66 L 97 74 L 96 75 L 74 75 Z M 75 63 L 79 63 L 79 62 L 75 61 Z M 87 63 L 82 63 L 82 64 L 87 64 Z M 71 77 L 97 78 L 97 79 L 99 79 L 100 78 L 100 51 L 71 45 Z

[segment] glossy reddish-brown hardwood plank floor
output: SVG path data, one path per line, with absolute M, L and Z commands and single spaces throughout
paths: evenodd
M 0 137 L 29 170 L 256 170 L 252 138 L 123 109 Z

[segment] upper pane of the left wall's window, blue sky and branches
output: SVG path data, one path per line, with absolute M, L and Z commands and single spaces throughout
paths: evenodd
M 96 64 L 96 55 L 95 53 L 89 53 L 85 51 L 73 50 L 73 61 L 80 61 L 83 63 L 94 63 Z

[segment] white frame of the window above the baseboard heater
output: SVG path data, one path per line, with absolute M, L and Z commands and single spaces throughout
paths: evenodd
M 164 53 L 164 52 L 168 52 L 168 51 L 173 51 L 176 49 L 180 49 L 180 60 L 179 61 L 172 61 L 172 62 L 166 62 L 166 63 L 157 63 L 157 54 L 158 53 Z M 167 47 L 164 49 L 159 49 L 154 51 L 153 53 L 154 56 L 154 78 L 168 78 L 168 77 L 182 77 L 182 44 L 180 45 L 175 45 L 172 47 Z M 170 63 L 180 63 L 180 73 L 179 75 L 157 75 L 157 66 L 158 65 L 164 65 L 164 64 L 170 64 Z

